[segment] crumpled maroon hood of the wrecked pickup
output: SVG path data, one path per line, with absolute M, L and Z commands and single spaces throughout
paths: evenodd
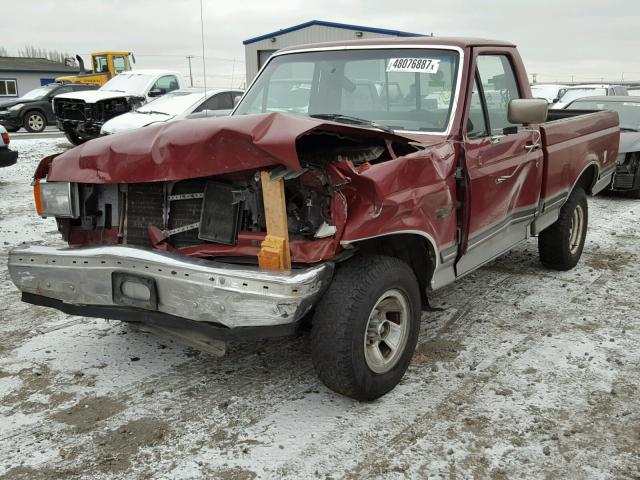
M 269 113 L 182 120 L 91 140 L 53 158 L 49 181 L 142 183 L 284 165 L 301 168 L 296 140 L 313 130 L 409 141 L 379 130 Z M 44 159 L 50 161 L 50 158 Z M 38 167 L 42 171 L 44 165 Z

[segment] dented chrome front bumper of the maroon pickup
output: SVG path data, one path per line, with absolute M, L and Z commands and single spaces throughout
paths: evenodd
M 71 305 L 122 307 L 123 293 L 114 295 L 113 278 L 125 274 L 153 280 L 154 312 L 229 328 L 296 322 L 311 309 L 333 275 L 332 263 L 266 272 L 128 246 L 57 249 L 31 245 L 11 250 L 8 260 L 11 279 L 24 293 Z M 135 311 L 144 315 L 144 310 Z

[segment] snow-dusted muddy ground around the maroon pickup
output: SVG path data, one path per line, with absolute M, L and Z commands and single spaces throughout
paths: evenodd
M 32 207 L 61 139 L 0 169 L 0 478 L 640 478 L 640 201 L 590 199 L 582 261 L 536 240 L 436 292 L 401 385 L 327 390 L 309 337 L 210 357 L 20 302 L 6 253 L 61 243 Z

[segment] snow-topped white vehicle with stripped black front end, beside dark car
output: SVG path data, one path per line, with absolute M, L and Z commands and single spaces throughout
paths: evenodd
M 100 129 L 108 120 L 185 86 L 182 75 L 177 72 L 127 71 L 98 90 L 56 96 L 53 109 L 58 128 L 71 143 L 80 145 L 100 136 Z

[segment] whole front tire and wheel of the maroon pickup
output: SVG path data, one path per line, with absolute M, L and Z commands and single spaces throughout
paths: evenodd
M 311 357 L 322 382 L 356 400 L 392 390 L 415 350 L 420 306 L 418 281 L 403 261 L 361 255 L 340 264 L 311 327 Z

